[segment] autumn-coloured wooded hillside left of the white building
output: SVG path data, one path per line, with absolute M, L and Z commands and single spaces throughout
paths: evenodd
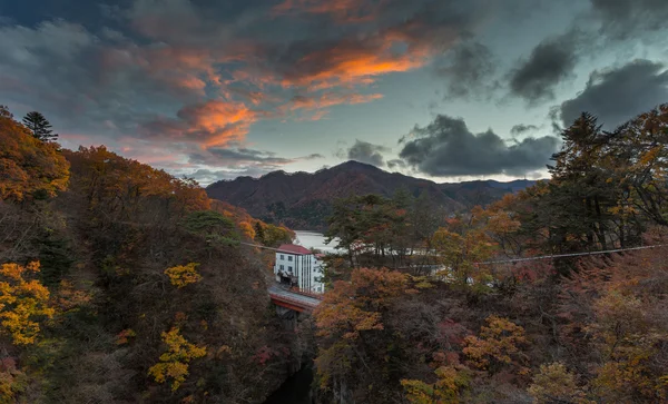
M 303 346 L 269 309 L 294 234 L 0 109 L 0 402 L 262 402 Z

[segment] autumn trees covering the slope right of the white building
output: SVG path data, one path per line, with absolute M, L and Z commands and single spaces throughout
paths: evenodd
M 397 198 L 337 204 L 353 248 L 315 313 L 321 402 L 668 401 L 668 105 L 561 135 L 550 180 L 436 228 Z M 440 270 L 383 268 L 419 245 Z

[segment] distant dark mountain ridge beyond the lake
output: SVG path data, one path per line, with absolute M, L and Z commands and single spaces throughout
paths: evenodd
M 283 223 L 294 229 L 322 230 L 332 203 L 351 195 L 391 196 L 405 188 L 415 197 L 426 193 L 434 205 L 454 213 L 474 205 L 485 205 L 533 185 L 531 180 L 499 183 L 479 180 L 436 184 L 426 179 L 387 173 L 375 166 L 347 161 L 316 173 L 273 171 L 261 178 L 238 177 L 206 188 L 210 198 L 243 207 L 267 223 Z

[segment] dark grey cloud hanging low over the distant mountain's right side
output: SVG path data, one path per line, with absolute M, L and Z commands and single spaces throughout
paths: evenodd
M 505 144 L 491 129 L 472 134 L 461 118 L 439 115 L 424 128 L 415 127 L 411 137 L 400 140 L 400 157 L 431 176 L 522 175 L 540 170 L 557 150 L 551 136 L 525 138 Z

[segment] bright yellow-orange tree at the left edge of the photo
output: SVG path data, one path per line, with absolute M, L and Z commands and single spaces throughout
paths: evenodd
M 0 331 L 11 336 L 16 345 L 35 343 L 40 327 L 35 317 L 53 316 L 49 307 L 49 289 L 24 275 L 39 272 L 39 262 L 27 266 L 2 264 L 0 269 Z

